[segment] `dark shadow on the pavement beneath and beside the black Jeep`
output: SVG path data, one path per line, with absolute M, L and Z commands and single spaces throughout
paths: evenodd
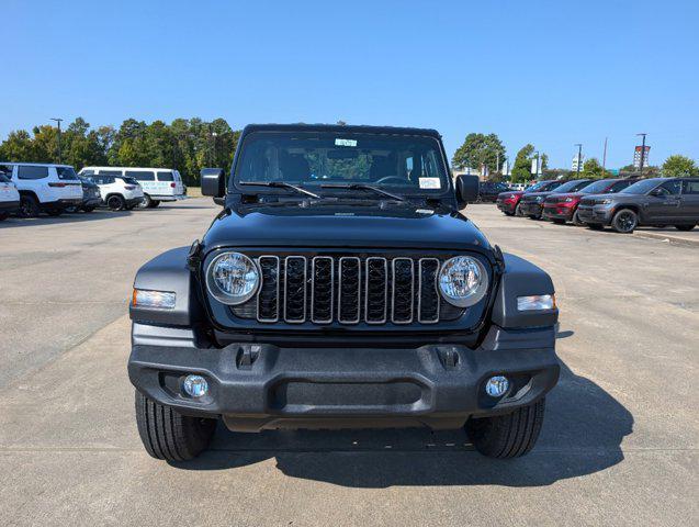
M 633 416 L 596 383 L 561 365 L 546 397 L 534 449 L 514 460 L 473 450 L 462 430 L 270 430 L 234 434 L 219 426 L 199 459 L 184 470 L 225 470 L 270 458 L 284 474 L 349 487 L 394 485 L 540 486 L 591 474 L 623 460 L 621 442 Z

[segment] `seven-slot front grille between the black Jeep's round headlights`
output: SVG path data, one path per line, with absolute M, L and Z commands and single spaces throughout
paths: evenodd
M 443 302 L 437 258 L 285 256 L 257 258 L 261 283 L 234 313 L 261 323 L 435 324 Z M 451 313 L 449 318 L 463 313 Z M 253 312 L 250 312 L 250 309 Z

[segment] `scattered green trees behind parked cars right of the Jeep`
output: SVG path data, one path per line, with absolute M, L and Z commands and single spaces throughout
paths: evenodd
M 599 159 L 595 157 L 587 159 L 583 164 L 579 173 L 567 169 L 549 168 L 549 156 L 543 152 L 537 152 L 533 145 L 527 144 L 519 149 L 515 157 L 509 181 L 519 183 L 534 179 L 535 175 L 532 175 L 531 167 L 532 160 L 537 159 L 537 156 L 539 156 L 542 168 L 541 171 L 545 178 L 563 176 L 573 179 L 578 177 L 585 179 L 601 179 L 610 176 L 609 170 L 606 170 L 599 162 Z M 456 149 L 451 162 L 455 170 L 463 170 L 466 167 L 481 170 L 482 167 L 486 167 L 489 179 L 501 181 L 507 179 L 501 172 L 503 164 L 506 160 L 507 153 L 497 134 L 471 133 L 466 135 L 463 144 Z M 620 169 L 621 176 L 632 176 L 635 173 L 636 169 L 633 165 L 628 165 Z M 692 159 L 686 156 L 673 155 L 669 156 L 661 167 L 645 167 L 643 173 L 647 177 L 699 176 L 699 167 Z

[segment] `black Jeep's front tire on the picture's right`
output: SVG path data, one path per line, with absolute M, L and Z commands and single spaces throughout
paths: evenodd
M 519 458 L 534 447 L 544 408 L 545 399 L 541 399 L 509 414 L 471 418 L 466 422 L 466 434 L 476 450 L 488 458 Z

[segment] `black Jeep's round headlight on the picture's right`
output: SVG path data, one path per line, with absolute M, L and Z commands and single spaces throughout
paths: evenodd
M 458 307 L 476 304 L 488 289 L 488 274 L 475 258 L 450 258 L 439 271 L 439 291 L 447 302 Z

